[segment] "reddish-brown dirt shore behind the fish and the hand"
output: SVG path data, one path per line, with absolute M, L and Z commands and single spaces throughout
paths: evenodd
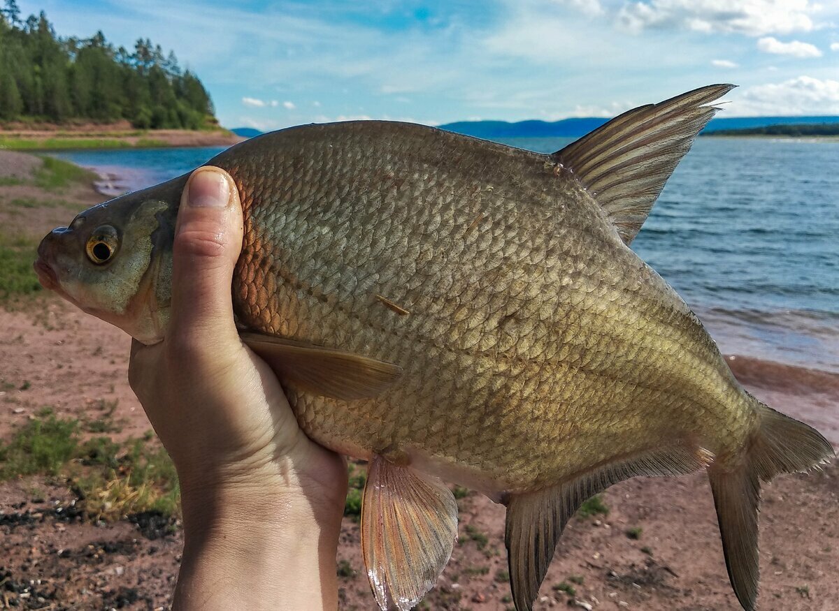
M 15 168 L 24 168 L 18 159 Z M 37 162 L 32 162 L 37 165 Z M 32 166 L 34 167 L 34 166 Z M 31 169 L 30 167 L 29 169 Z M 12 168 L 0 152 L 0 177 Z M 10 170 L 9 170 L 10 171 Z M 29 170 L 27 170 L 29 171 Z M 101 196 L 77 187 L 66 205 L 12 210 L 0 187 L 0 225 L 41 235 Z M 37 190 L 37 189 L 36 189 Z M 19 196 L 19 195 L 16 195 Z M 2 273 L 2 271 L 0 271 Z M 0 438 L 42 406 L 58 416 L 92 419 L 102 401 L 118 401 L 115 438 L 142 437 L 150 425 L 128 387 L 128 337 L 41 294 L 0 305 Z M 736 364 L 748 387 L 781 411 L 835 422 L 835 381 L 806 389 L 755 375 Z M 802 398 L 803 397 L 803 398 Z M 839 438 L 831 437 L 833 443 Z M 86 520 L 60 480 L 28 477 L 0 484 L 0 608 L 162 609 L 175 584 L 183 536 L 154 515 L 115 523 Z M 839 470 L 781 477 L 764 488 L 761 512 L 762 609 L 839 608 Z M 728 585 L 717 519 L 706 478 L 633 479 L 603 495 L 607 515 L 575 518 L 534 608 L 711 611 L 738 608 Z M 476 493 L 458 501 L 460 540 L 423 608 L 512 608 L 506 580 L 503 507 Z M 345 518 L 338 559 L 341 609 L 376 608 L 363 574 L 358 525 Z

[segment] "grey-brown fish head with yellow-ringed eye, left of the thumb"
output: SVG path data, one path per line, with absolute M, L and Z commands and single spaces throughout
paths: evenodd
M 56 227 L 38 247 L 39 282 L 143 344 L 163 339 L 186 178 L 121 195 Z

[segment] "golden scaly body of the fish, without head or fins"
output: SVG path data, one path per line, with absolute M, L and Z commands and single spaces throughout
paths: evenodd
M 753 410 L 716 346 L 570 170 L 388 122 L 247 145 L 209 162 L 245 210 L 240 324 L 404 372 L 359 401 L 289 389 L 315 441 L 406 453 L 496 497 L 590 469 L 616 444 L 744 443 Z

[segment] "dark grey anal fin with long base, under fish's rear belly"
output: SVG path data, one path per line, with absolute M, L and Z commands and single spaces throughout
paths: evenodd
M 592 494 L 638 475 L 693 473 L 706 467 L 711 458 L 711 453 L 701 448 L 681 445 L 657 448 L 616 458 L 550 488 L 511 495 L 504 541 L 516 608 L 519 611 L 533 608 L 565 525 Z

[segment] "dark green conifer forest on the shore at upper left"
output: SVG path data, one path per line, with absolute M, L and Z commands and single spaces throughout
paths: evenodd
M 0 10 L 0 120 L 115 122 L 200 129 L 216 125 L 201 80 L 175 54 L 138 39 L 115 49 L 102 32 L 56 36 L 46 15 L 21 20 L 15 0 Z

